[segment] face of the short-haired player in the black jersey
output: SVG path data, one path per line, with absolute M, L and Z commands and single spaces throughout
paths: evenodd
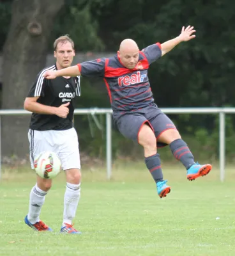
M 54 51 L 57 68 L 61 69 L 70 67 L 74 56 L 75 51 L 70 42 L 66 41 L 57 44 L 56 51 Z

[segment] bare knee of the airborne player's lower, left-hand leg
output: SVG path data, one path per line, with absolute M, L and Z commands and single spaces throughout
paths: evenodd
M 144 148 L 144 156 L 153 156 L 156 154 L 156 137 L 148 124 L 144 124 L 139 131 L 139 144 Z

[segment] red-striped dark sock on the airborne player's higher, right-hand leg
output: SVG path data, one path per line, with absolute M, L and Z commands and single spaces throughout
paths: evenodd
M 170 144 L 170 148 L 173 156 L 181 161 L 181 163 L 183 163 L 186 170 L 188 170 L 190 166 L 195 164 L 193 154 L 188 148 L 188 145 L 185 143 L 185 141 L 181 139 L 174 140 Z

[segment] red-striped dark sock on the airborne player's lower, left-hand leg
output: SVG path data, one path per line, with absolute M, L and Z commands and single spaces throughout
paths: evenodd
M 163 180 L 160 155 L 155 154 L 145 158 L 145 163 L 155 182 Z

